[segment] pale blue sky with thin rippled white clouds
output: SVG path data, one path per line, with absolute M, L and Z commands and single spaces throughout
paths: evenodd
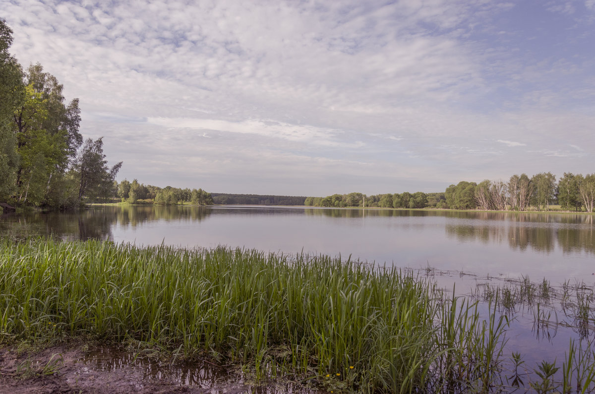
M 0 0 L 118 180 L 441 192 L 593 173 L 595 0 Z

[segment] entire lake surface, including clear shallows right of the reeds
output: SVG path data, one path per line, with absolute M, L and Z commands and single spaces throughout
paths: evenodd
M 587 348 L 595 343 L 595 327 L 577 323 L 577 300 L 583 296 L 590 303 L 588 321 L 595 320 L 593 215 L 124 205 L 8 214 L 0 217 L 0 234 L 340 254 L 343 259 L 350 256 L 364 263 L 419 270 L 418 275 L 430 276 L 446 289 L 452 290 L 456 283 L 458 294 L 484 301 L 483 315 L 490 308 L 486 296 L 490 286 L 500 286 L 502 295 L 508 291 L 518 298 L 519 278 L 529 276 L 536 294 L 545 278 L 554 286 L 552 301 L 536 296 L 535 302 L 517 300 L 512 307 L 498 306 L 510 321 L 504 358 L 520 351 L 526 361 L 524 371 L 530 374 L 543 359 L 557 359 L 561 366 L 570 340 L 585 342 Z M 511 370 L 509 361 L 504 365 L 505 371 Z

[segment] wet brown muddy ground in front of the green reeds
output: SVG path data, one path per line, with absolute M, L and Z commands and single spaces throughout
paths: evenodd
M 0 394 L 317 393 L 295 384 L 246 382 L 209 361 L 158 361 L 130 349 L 72 340 L 35 348 L 0 347 Z

